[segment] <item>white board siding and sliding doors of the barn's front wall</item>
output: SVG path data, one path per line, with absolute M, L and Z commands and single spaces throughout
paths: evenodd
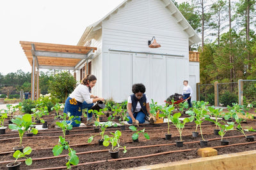
M 148 48 L 147 41 L 152 36 L 156 36 L 161 48 Z M 190 78 L 188 46 L 188 34 L 162 1 L 134 0 L 127 3 L 117 15 L 102 23 L 102 55 L 92 62 L 92 73 L 102 78 L 97 88 L 102 90 L 102 97 L 113 97 L 116 102 L 122 102 L 132 94 L 133 83 L 143 83 L 148 97 L 163 104 L 166 97 L 181 93 L 183 80 Z M 100 61 L 102 75 L 99 73 Z

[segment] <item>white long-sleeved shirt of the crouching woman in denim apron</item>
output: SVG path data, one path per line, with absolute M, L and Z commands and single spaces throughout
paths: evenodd
M 91 104 L 93 103 L 91 95 L 92 94 L 89 92 L 89 87 L 79 84 L 69 97 L 72 99 L 75 98 L 76 101 L 79 101 L 81 103 L 86 101 L 86 103 Z

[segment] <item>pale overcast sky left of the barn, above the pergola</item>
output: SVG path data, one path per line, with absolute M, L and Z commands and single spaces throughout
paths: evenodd
M 31 72 L 19 41 L 77 45 L 88 25 L 123 1 L 1 0 L 0 73 Z

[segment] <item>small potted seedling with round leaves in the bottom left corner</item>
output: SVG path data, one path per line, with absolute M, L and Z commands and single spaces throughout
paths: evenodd
M 23 152 L 20 152 L 20 150 L 16 150 L 13 153 L 13 157 L 16 159 L 14 162 L 11 162 L 6 165 L 8 169 L 20 169 L 20 164 L 21 162 L 17 161 L 19 158 L 26 157 L 26 155 L 29 155 L 32 152 L 32 148 L 27 146 L 24 148 Z M 32 159 L 31 157 L 26 157 L 25 164 L 27 166 L 30 166 L 32 164 Z

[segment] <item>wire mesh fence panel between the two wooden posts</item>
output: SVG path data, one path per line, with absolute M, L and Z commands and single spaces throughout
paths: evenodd
M 238 83 L 218 83 L 218 105 L 232 106 L 232 103 L 238 103 Z

